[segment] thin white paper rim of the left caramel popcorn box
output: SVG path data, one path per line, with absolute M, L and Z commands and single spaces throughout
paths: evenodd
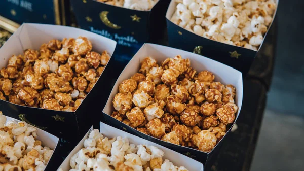
M 94 0 L 93 0 L 93 1 L 94 1 Z M 49 25 L 49 26 L 54 26 L 54 27 L 62 27 L 62 28 L 64 27 L 64 28 L 69 28 L 69 29 L 74 29 L 74 30 L 81 30 L 81 31 L 83 31 L 83 32 L 92 33 L 92 34 L 94 34 L 94 35 L 96 35 L 96 36 L 98 36 L 98 37 L 103 37 L 103 38 L 106 39 L 107 41 L 110 41 L 110 42 L 112 42 L 113 44 L 115 44 L 115 47 L 114 47 L 114 49 L 113 49 L 113 52 L 112 52 L 112 54 L 110 54 L 109 60 L 111 59 L 113 53 L 115 52 L 116 46 L 117 46 L 117 42 L 116 42 L 116 41 L 111 40 L 111 39 L 109 39 L 109 38 L 106 38 L 106 37 L 104 37 L 104 36 L 98 35 L 97 33 L 94 33 L 94 32 L 91 32 L 91 31 L 87 31 L 87 30 L 80 29 L 80 28 L 75 28 L 75 27 L 63 26 L 63 25 L 37 24 L 37 23 L 23 23 L 23 24 L 16 30 L 16 32 L 13 33 L 13 35 L 12 35 L 11 37 L 16 36 L 16 37 L 19 39 L 21 45 L 22 45 L 22 43 L 21 43 L 21 40 L 20 40 L 19 36 L 20 36 L 20 34 L 22 33 L 23 27 L 25 27 L 25 26 L 27 26 L 27 25 L 29 25 L 29 26 L 31 26 L 31 25 L 37 25 L 37 26 Z M 11 38 L 11 37 L 10 37 L 10 38 Z M 5 44 L 6 44 L 7 42 L 9 42 L 10 38 L 5 42 Z M 5 47 L 5 44 L 4 44 L 0 49 L 3 49 L 3 47 Z M 0 51 L 0 53 L 1 53 L 1 51 Z M 108 63 L 104 66 L 104 70 L 106 69 L 106 66 L 107 66 L 107 65 L 108 65 Z M 101 73 L 101 75 L 102 75 L 102 74 L 103 74 L 103 72 Z M 100 75 L 99 78 L 97 79 L 96 83 L 99 81 L 101 75 Z M 95 85 L 96 85 L 96 83 L 95 83 Z M 92 90 L 95 88 L 95 85 L 93 86 Z M 91 93 L 91 91 L 87 94 L 87 96 L 88 96 L 90 93 Z M 83 99 L 83 101 L 87 98 L 87 96 Z M 2 99 L 0 99 L 0 100 L 2 100 Z M 48 111 L 56 111 L 56 112 L 58 112 L 57 110 L 53 110 L 53 109 L 44 109 L 44 108 L 38 108 L 38 107 L 22 106 L 22 105 L 14 104 L 14 103 L 12 103 L 12 102 L 10 102 L 10 101 L 6 101 L 6 100 L 2 100 L 2 101 L 8 102 L 9 104 L 12 104 L 12 105 L 17 105 L 17 106 L 22 107 L 22 108 L 42 109 L 42 110 L 48 110 Z M 77 110 L 81 107 L 82 104 L 83 104 L 83 103 L 81 103 L 80 106 L 79 106 L 74 112 L 71 112 L 71 111 L 60 111 L 60 112 L 64 112 L 64 113 L 76 113 Z

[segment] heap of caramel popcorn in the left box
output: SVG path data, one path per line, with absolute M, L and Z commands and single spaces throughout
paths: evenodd
M 40 50 L 26 49 L 23 55 L 13 55 L 0 70 L 0 99 L 22 106 L 75 111 L 109 58 L 107 51 L 92 51 L 92 43 L 85 37 L 54 39 Z

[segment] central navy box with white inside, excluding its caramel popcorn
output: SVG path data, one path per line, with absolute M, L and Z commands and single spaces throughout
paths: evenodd
M 225 134 L 224 138 L 214 147 L 212 151 L 209 153 L 202 152 L 196 149 L 179 146 L 175 144 L 171 144 L 168 142 L 164 142 L 160 139 L 154 138 L 153 136 L 146 135 L 144 133 L 139 132 L 138 130 L 124 124 L 123 122 L 112 118 L 110 115 L 112 114 L 114 108 L 112 105 L 112 100 L 115 97 L 115 95 L 118 93 L 119 85 L 122 81 L 129 79 L 131 76 L 133 76 L 135 73 L 137 73 L 140 69 L 140 62 L 147 56 L 150 56 L 154 59 L 156 59 L 158 62 L 164 61 L 166 58 L 172 58 L 176 55 L 181 55 L 182 58 L 188 58 L 191 61 L 191 67 L 197 71 L 210 71 L 215 75 L 215 81 L 219 81 L 222 84 L 232 84 L 236 88 L 236 98 L 235 98 L 235 104 L 239 107 L 238 112 L 236 113 L 236 119 L 234 123 L 236 122 L 240 111 L 242 107 L 242 100 L 243 100 L 243 80 L 242 80 L 242 73 L 233 69 L 230 66 L 227 66 L 225 64 L 222 64 L 220 62 L 217 62 L 215 60 L 206 58 L 204 56 L 174 49 L 166 46 L 156 45 L 156 44 L 144 44 L 142 48 L 135 54 L 135 56 L 130 60 L 128 65 L 125 67 L 124 71 L 119 76 L 116 84 L 113 86 L 112 92 L 108 98 L 107 104 L 103 109 L 104 117 L 106 122 L 114 126 L 118 129 L 125 130 L 129 133 L 132 133 L 136 136 L 139 136 L 140 138 L 143 138 L 145 140 L 149 140 L 151 142 L 155 142 L 157 144 L 160 144 L 162 146 L 165 146 L 167 148 L 170 148 L 176 152 L 179 152 L 181 154 L 184 154 L 188 157 L 191 157 L 197 161 L 200 161 L 204 164 L 204 167 L 208 168 L 211 161 L 213 160 L 213 157 L 216 156 L 217 151 L 219 150 L 219 146 L 227 133 L 229 133 L 230 129 Z M 233 123 L 233 124 L 234 124 Z M 232 124 L 232 126 L 233 126 Z M 231 126 L 231 127 L 232 127 Z

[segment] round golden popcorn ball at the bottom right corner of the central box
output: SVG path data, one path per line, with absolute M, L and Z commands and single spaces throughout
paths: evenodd
M 216 145 L 216 137 L 214 133 L 208 130 L 202 130 L 197 136 L 197 147 L 204 152 L 210 152 Z

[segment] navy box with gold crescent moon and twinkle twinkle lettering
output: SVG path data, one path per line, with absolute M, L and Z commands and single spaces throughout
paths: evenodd
M 71 1 L 78 25 L 117 41 L 120 61 L 127 63 L 149 40 L 159 43 L 166 30 L 166 8 L 169 0 L 159 0 L 149 11 L 131 10 L 95 0 Z M 128 55 L 126 55 L 128 54 Z

